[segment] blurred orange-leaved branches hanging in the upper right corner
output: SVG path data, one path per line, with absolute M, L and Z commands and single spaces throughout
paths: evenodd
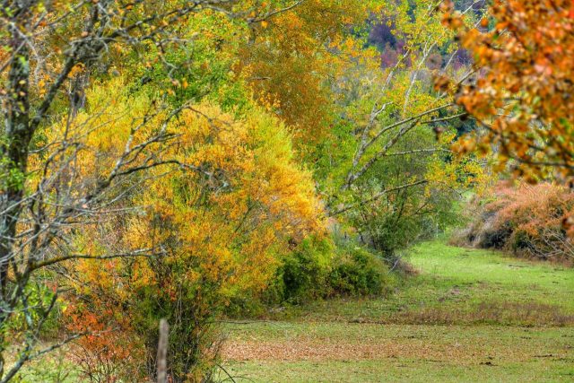
M 569 0 L 495 1 L 473 25 L 444 4 L 444 22 L 474 57 L 474 77 L 439 87 L 483 127 L 457 145 L 494 152 L 500 170 L 537 182 L 574 170 L 574 4 Z

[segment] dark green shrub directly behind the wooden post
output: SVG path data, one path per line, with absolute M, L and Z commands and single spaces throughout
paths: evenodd
M 174 275 L 175 276 L 175 275 Z M 135 312 L 136 333 L 143 338 L 147 351 L 147 376 L 154 376 L 159 342 L 158 323 L 170 324 L 168 365 L 170 381 L 209 381 L 219 363 L 222 337 L 215 319 L 221 311 L 221 298 L 209 283 L 201 285 L 175 276 L 175 291 L 157 286 L 138 293 Z

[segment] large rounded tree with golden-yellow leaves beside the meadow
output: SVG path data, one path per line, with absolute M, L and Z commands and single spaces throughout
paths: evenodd
M 74 275 L 68 326 L 79 331 L 89 322 L 100 332 L 122 330 L 80 341 L 84 353 L 77 356 L 86 372 L 116 378 L 134 373 L 102 370 L 117 366 L 129 345 L 139 351 L 132 355 L 147 357 L 132 357 L 132 367 L 149 376 L 157 320 L 168 318 L 170 373 L 199 379 L 211 370 L 205 363 L 213 367 L 216 339 L 209 329 L 218 312 L 235 297 L 257 296 L 292 245 L 310 233 L 321 235 L 322 208 L 311 174 L 298 163 L 291 135 L 277 118 L 258 107 L 248 116 L 232 116 L 200 104 L 169 119 L 161 107 L 150 114 L 149 99 L 130 95 L 125 84 L 117 79 L 94 87 L 91 100 L 109 107 L 88 108 L 74 120 L 80 126 L 63 120 L 49 135 L 83 132 L 76 140 L 83 146 L 78 169 L 83 178 L 98 179 L 113 168 L 112 154 L 142 144 L 165 125 L 167 134 L 178 135 L 177 144 L 166 144 L 163 152 L 172 168 L 152 169 L 122 186 L 129 203 L 113 208 L 125 209 L 123 218 L 115 215 L 74 233 L 77 252 L 148 251 L 103 265 L 100 259 L 65 264 L 66 274 Z M 104 121 L 114 129 L 101 130 Z M 141 121 L 137 132 L 134 121 Z M 133 160 L 135 166 L 149 161 L 145 155 Z

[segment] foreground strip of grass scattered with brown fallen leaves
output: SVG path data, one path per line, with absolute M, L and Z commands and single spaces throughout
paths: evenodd
M 261 382 L 574 379 L 571 327 L 283 322 L 230 332 L 228 370 Z

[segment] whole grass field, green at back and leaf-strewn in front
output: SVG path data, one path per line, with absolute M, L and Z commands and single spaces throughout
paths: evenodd
M 574 381 L 574 270 L 442 242 L 396 293 L 229 324 L 236 381 Z

